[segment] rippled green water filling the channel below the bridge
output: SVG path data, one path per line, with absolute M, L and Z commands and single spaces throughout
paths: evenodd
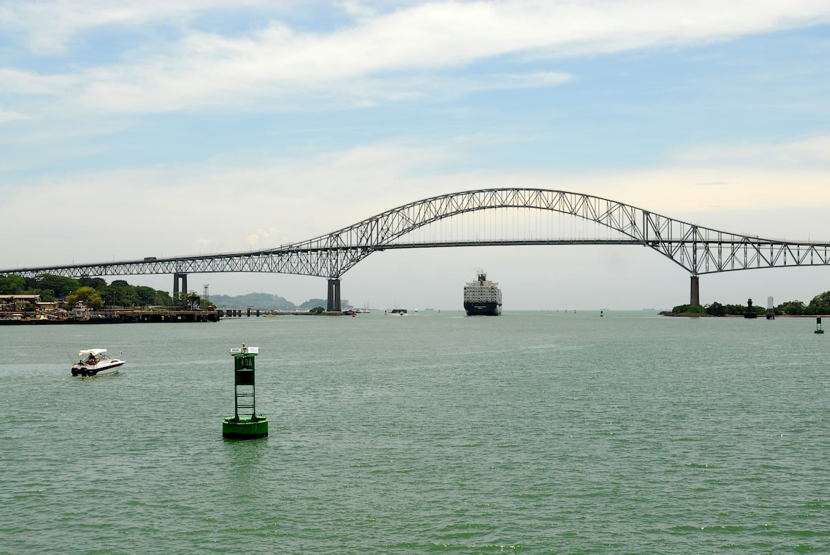
M 0 328 L 0 553 L 828 553 L 813 319 Z M 222 439 L 259 346 L 270 436 Z M 127 363 L 73 378 L 79 348 Z

